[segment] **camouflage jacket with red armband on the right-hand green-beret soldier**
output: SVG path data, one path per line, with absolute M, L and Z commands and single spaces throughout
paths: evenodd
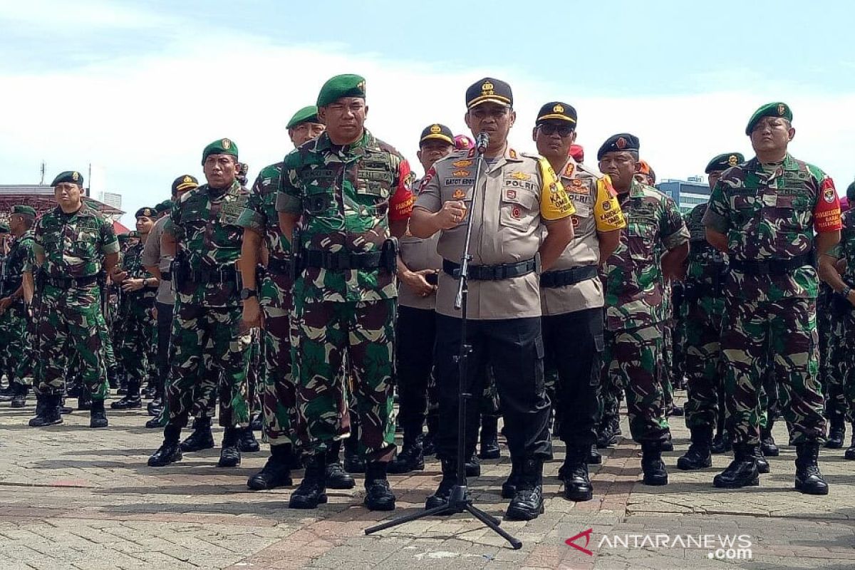
M 834 182 L 787 155 L 774 167 L 757 158 L 730 167 L 712 191 L 705 226 L 727 235 L 731 261 L 787 261 L 813 250 L 813 230 L 840 229 Z M 807 261 L 786 274 L 746 274 L 731 266 L 725 291 L 756 301 L 816 298 L 817 269 Z

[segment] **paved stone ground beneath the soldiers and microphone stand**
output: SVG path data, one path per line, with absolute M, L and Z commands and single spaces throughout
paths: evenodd
M 140 411 L 109 414 L 107 430 L 89 429 L 85 412 L 44 429 L 27 427 L 30 417 L 32 404 L 0 408 L 0 570 L 855 568 L 855 462 L 843 460 L 842 450 L 823 450 L 828 497 L 791 490 L 790 447 L 769 460 L 772 473 L 760 487 L 720 491 L 711 479 L 727 456 L 714 456 L 713 467 L 702 472 L 675 468 L 687 447 L 681 418 L 671 422 L 677 450 L 667 454 L 670 485 L 640 485 L 640 450 L 624 439 L 594 470 L 591 502 L 561 497 L 556 474 L 563 446 L 557 442 L 557 459 L 546 469 L 545 514 L 502 524 L 523 541 L 522 549 L 513 550 L 464 515 L 364 536 L 367 526 L 388 514 L 362 507 L 361 479 L 354 491 L 332 491 L 329 504 L 316 512 L 291 511 L 290 490 L 256 493 L 245 487 L 266 460 L 263 450 L 245 454 L 235 469 L 215 467 L 217 449 L 166 468 L 146 467 L 161 436 L 141 427 L 146 418 Z M 623 429 L 628 432 L 625 420 Z M 775 436 L 787 441 L 784 426 L 776 426 Z M 219 442 L 220 435 L 215 438 Z M 506 503 L 498 488 L 510 471 L 506 450 L 504 455 L 484 462 L 481 477 L 469 480 L 476 504 L 497 517 Z M 438 484 L 439 464 L 431 460 L 421 473 L 391 479 L 398 495 L 394 514 L 413 513 Z M 565 544 L 587 529 L 592 555 Z M 668 544 L 679 537 L 682 542 L 672 548 L 644 542 L 657 534 L 667 535 Z M 699 547 L 699 535 L 711 535 L 712 544 Z M 739 560 L 710 558 L 719 535 L 746 535 L 751 558 L 735 551 L 731 555 Z M 630 547 L 603 543 L 614 537 Z M 584 537 L 575 544 L 584 548 Z

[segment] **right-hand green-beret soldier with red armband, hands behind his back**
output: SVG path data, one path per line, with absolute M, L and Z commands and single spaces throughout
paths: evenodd
M 722 362 L 734 461 L 716 487 L 758 485 L 758 393 L 769 371 L 793 425 L 796 489 L 827 494 L 817 466 L 825 435 L 817 380 L 817 255 L 840 239 L 840 201 L 819 168 L 787 153 L 795 135 L 785 103 L 758 109 L 746 126 L 756 158 L 728 168 L 704 215 L 708 241 L 728 254 Z M 814 236 L 814 230 L 817 235 Z

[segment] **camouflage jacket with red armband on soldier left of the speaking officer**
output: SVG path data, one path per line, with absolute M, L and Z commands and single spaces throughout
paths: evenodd
M 368 131 L 345 146 L 324 132 L 285 157 L 276 209 L 302 215 L 303 250 L 380 251 L 389 221 L 410 217 L 411 183 L 406 159 Z M 294 289 L 295 295 L 339 303 L 398 297 L 394 274 L 377 269 L 306 267 Z

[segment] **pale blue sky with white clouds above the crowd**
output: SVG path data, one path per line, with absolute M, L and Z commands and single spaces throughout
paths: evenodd
M 515 88 L 522 150 L 559 99 L 590 155 L 634 132 L 660 177 L 682 178 L 750 154 L 747 116 L 780 99 L 793 154 L 839 190 L 855 174 L 851 3 L 2 3 L 0 179 L 91 162 L 131 212 L 200 174 L 214 138 L 236 140 L 254 176 L 289 150 L 286 115 L 345 72 L 368 79 L 369 128 L 413 161 L 422 126 L 463 131 L 463 91 L 492 75 Z M 224 83 L 229 69 L 243 79 Z

